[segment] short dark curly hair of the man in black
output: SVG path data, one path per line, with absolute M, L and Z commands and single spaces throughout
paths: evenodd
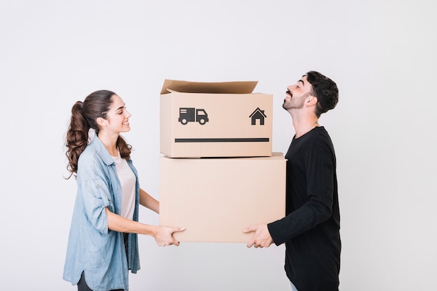
M 313 96 L 318 100 L 315 111 L 317 117 L 334 109 L 339 102 L 339 89 L 335 82 L 314 70 L 306 73 L 306 80 L 313 87 Z

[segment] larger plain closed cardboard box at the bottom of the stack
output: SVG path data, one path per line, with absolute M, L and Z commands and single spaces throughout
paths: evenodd
M 186 227 L 178 241 L 244 242 L 244 228 L 286 214 L 286 159 L 281 153 L 255 158 L 160 160 L 160 225 Z

